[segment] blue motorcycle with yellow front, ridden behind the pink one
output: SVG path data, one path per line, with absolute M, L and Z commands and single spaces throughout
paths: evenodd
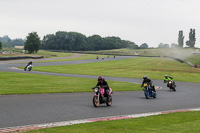
M 144 83 L 144 95 L 147 99 L 150 97 L 156 98 L 157 96 L 156 92 L 151 89 L 151 85 L 147 83 Z

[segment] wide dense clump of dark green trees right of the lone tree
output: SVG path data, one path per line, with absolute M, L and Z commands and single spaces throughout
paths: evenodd
M 78 32 L 58 31 L 43 37 L 41 49 L 68 51 L 97 51 L 119 48 L 138 48 L 131 41 L 121 40 L 119 37 L 101 37 L 92 35 L 86 37 Z

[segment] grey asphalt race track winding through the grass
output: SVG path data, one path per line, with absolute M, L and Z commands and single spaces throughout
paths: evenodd
M 117 60 L 133 58 L 128 56 L 109 58 Z M 100 62 L 100 60 L 81 60 L 66 62 L 34 63 L 36 66 L 64 65 Z M 25 72 L 13 67 L 25 66 L 21 64 L 7 64 L 0 62 L 0 71 L 33 73 L 56 76 L 95 78 L 98 76 L 59 74 L 47 72 Z M 33 68 L 34 70 L 34 68 Z M 142 79 L 105 77 L 107 80 L 141 83 Z M 153 80 L 157 90 L 156 99 L 146 99 L 143 91 L 114 92 L 111 107 L 101 105 L 95 108 L 92 104 L 91 93 L 60 93 L 60 94 L 27 94 L 27 95 L 0 95 L 0 128 L 60 122 L 96 117 L 148 113 L 165 110 L 187 109 L 200 107 L 200 83 L 176 82 L 177 91 L 172 92 L 161 80 Z M 96 83 L 94 83 L 95 85 Z M 88 88 L 90 89 L 90 88 Z M 113 88 L 114 90 L 114 88 Z

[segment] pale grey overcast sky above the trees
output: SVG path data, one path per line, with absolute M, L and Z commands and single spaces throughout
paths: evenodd
M 75 31 L 118 36 L 137 45 L 178 43 L 196 29 L 200 47 L 200 0 L 0 0 L 0 37 L 26 38 Z

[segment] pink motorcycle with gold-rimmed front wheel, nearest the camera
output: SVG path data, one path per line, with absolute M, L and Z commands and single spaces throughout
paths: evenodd
M 99 107 L 100 104 L 106 104 L 107 106 L 111 106 L 112 104 L 112 89 L 109 88 L 109 92 L 107 92 L 108 96 L 104 97 L 105 94 L 105 89 L 104 88 L 100 88 L 98 86 L 93 87 L 92 88 L 94 93 L 94 97 L 93 97 L 93 105 L 95 107 Z

